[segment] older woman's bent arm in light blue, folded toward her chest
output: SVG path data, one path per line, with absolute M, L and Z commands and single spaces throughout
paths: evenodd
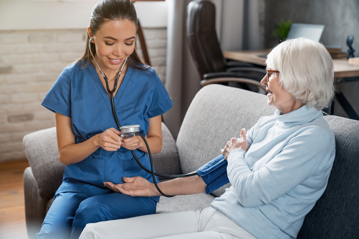
M 235 149 L 228 155 L 227 174 L 238 202 L 245 207 L 269 204 L 298 185 L 293 191 L 298 195 L 292 197 L 311 201 L 323 192 L 334 158 L 333 135 L 320 127 L 285 134 L 268 128 L 268 134 L 268 141 L 252 144 L 248 152 Z

